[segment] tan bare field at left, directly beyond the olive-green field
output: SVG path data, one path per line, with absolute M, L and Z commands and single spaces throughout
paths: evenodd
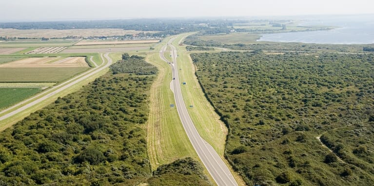
M 0 68 L 88 67 L 84 57 L 32 57 L 1 64 Z

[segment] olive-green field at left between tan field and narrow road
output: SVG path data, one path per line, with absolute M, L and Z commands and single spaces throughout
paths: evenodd
M 73 68 L 0 68 L 0 82 L 62 82 L 89 67 Z

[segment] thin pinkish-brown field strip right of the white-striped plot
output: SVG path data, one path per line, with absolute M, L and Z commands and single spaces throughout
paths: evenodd
M 149 50 L 149 47 L 123 47 L 123 48 L 93 48 L 93 49 L 65 49 L 60 53 L 104 53 Z

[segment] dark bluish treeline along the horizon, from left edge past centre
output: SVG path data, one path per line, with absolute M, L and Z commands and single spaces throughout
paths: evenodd
M 209 34 L 226 33 L 235 23 L 245 20 L 206 19 L 124 19 L 93 21 L 49 21 L 49 22 L 8 22 L 0 23 L 0 28 L 27 29 L 125 29 L 137 31 L 159 31 L 159 34 L 179 34 L 203 31 Z M 238 31 L 239 32 L 239 31 Z M 157 36 L 158 34 L 155 34 Z

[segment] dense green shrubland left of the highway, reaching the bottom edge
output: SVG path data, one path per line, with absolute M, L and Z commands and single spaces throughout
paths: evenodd
M 155 76 L 122 73 L 123 67 L 111 67 L 80 91 L 1 132 L 0 184 L 209 185 L 192 159 L 165 165 L 152 177 L 145 123 Z

